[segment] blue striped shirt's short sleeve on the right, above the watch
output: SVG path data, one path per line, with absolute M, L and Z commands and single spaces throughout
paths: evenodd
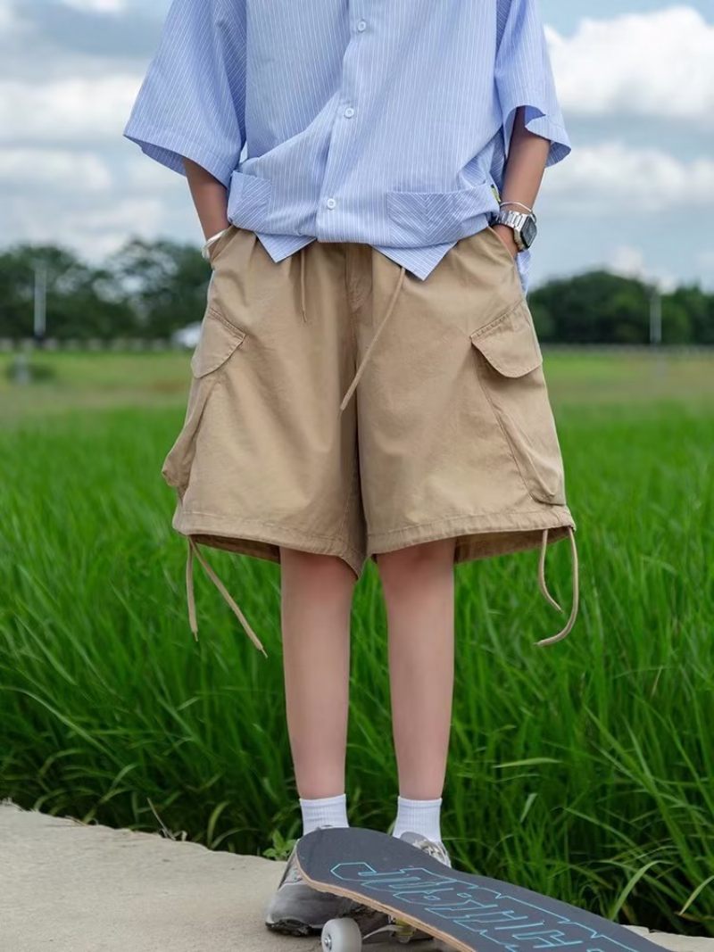
M 537 0 L 499 0 L 496 89 L 508 151 L 516 109 L 525 107 L 526 129 L 550 140 L 545 168 L 572 150 L 558 103 Z

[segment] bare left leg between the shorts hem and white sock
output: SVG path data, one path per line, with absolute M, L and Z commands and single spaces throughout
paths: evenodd
M 298 794 L 345 791 L 349 615 L 355 574 L 332 555 L 281 547 L 281 621 L 290 751 Z

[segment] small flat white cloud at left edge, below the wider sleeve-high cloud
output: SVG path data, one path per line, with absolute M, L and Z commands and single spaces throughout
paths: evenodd
M 111 173 L 92 152 L 74 149 L 2 149 L 0 186 L 104 191 Z

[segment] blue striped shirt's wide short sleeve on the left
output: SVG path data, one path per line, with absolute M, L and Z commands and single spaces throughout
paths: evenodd
M 169 169 L 186 157 L 227 188 L 245 142 L 240 0 L 173 0 L 124 135 Z

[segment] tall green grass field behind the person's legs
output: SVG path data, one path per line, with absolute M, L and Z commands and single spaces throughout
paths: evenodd
M 0 358 L 0 796 L 236 852 L 300 832 L 279 566 L 211 550 L 268 659 L 185 543 L 160 467 L 188 355 Z M 581 560 L 565 641 L 537 551 L 457 572 L 442 831 L 455 865 L 622 922 L 714 935 L 714 355 L 545 351 Z M 548 551 L 570 604 L 567 543 Z M 396 804 L 376 568 L 356 591 L 350 822 Z M 387 743 L 388 742 L 388 743 Z

